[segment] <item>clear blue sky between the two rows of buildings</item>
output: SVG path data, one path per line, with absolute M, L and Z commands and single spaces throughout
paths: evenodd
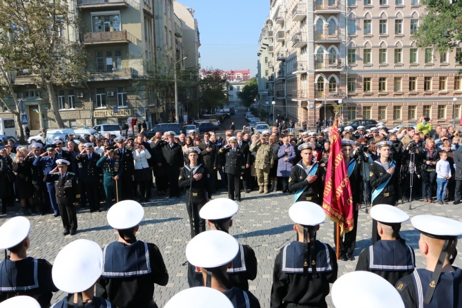
M 178 0 L 193 8 L 199 23 L 201 67 L 250 69 L 257 73 L 258 39 L 269 0 Z

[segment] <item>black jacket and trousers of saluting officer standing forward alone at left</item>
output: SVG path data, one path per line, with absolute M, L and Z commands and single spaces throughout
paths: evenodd
M 74 202 L 80 199 L 80 187 L 77 177 L 72 172 L 61 175 L 60 172 L 46 174 L 46 183 L 54 183 L 56 203 L 61 211 L 64 230 L 75 233 L 77 230 L 77 215 Z

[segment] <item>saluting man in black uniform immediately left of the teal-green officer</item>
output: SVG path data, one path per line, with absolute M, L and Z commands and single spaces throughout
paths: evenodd
M 82 164 L 82 172 L 80 180 L 84 182 L 85 191 L 87 193 L 88 203 L 90 205 L 90 213 L 100 210 L 100 176 L 103 175 L 103 170 L 97 166 L 100 160 L 100 155 L 94 152 L 93 143 L 85 143 L 84 149 L 75 156 L 77 163 Z

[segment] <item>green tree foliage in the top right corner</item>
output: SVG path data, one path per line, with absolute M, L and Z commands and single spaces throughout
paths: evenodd
M 462 1 L 422 0 L 427 14 L 415 38 L 418 47 L 434 46 L 439 53 L 452 51 L 462 40 Z M 462 54 L 456 55 L 462 65 Z

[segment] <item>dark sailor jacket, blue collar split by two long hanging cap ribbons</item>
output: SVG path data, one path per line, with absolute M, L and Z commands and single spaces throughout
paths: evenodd
M 288 303 L 303 307 L 327 307 L 325 297 L 330 292 L 329 283 L 337 280 L 337 258 L 328 244 L 316 240 L 315 249 L 316 279 L 313 279 L 311 267 L 307 275 L 303 274 L 302 242 L 293 241 L 279 250 L 274 262 L 271 308 L 286 307 Z

